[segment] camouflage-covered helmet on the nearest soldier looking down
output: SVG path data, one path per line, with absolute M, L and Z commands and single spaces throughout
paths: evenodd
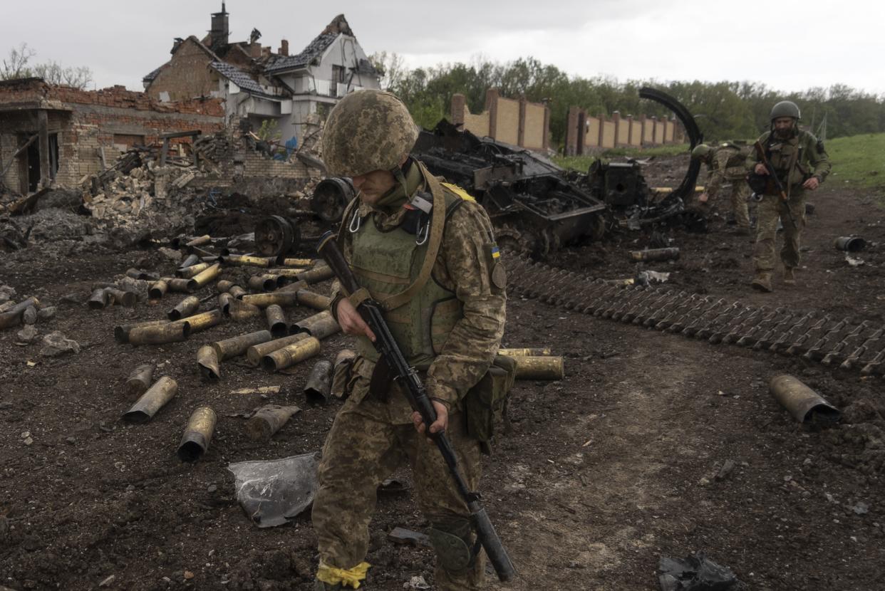
M 397 168 L 418 140 L 402 101 L 382 90 L 357 90 L 335 105 L 323 132 L 323 161 L 332 176 Z

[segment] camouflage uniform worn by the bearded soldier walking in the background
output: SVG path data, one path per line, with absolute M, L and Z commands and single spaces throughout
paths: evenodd
M 770 274 L 774 269 L 774 241 L 779 219 L 783 226 L 784 239 L 781 261 L 789 270 L 799 266 L 801 260 L 799 247 L 805 227 L 805 189 L 802 184 L 812 176 L 823 182 L 831 166 L 823 142 L 807 131 L 794 132 L 789 139 L 781 139 L 773 132 L 766 132 L 758 141 L 765 147 L 769 161 L 789 196 L 788 202 L 785 203 L 773 181 L 769 180 L 756 210 L 758 219 L 753 265 L 757 274 Z M 746 170 L 752 172 L 761 161 L 756 150 L 751 151 L 747 158 Z M 796 221 L 796 227 L 789 222 L 788 207 Z

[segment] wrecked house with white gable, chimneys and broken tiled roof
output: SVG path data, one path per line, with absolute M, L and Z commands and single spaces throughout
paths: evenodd
M 300 141 L 311 116 L 324 116 L 347 93 L 381 88 L 379 73 L 343 14 L 296 55 L 289 55 L 285 39 L 274 52 L 258 42 L 260 36 L 252 29 L 249 42 L 229 42 L 222 3 L 202 41 L 175 39 L 172 58 L 144 77 L 145 92 L 160 101 L 218 97 L 228 121 L 249 119 L 254 130 L 271 121 L 273 132 L 287 142 Z

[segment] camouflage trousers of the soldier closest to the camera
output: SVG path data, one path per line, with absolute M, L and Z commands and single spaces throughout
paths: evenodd
M 460 530 L 458 535 L 468 527 L 466 503 L 435 443 L 411 423 L 400 424 L 390 410 L 390 403 L 371 395 L 351 395 L 335 416 L 319 463 L 319 487 L 312 511 L 319 557 L 326 564 L 350 569 L 364 560 L 377 488 L 404 460 L 411 464 L 419 509 L 431 526 L 449 532 Z M 480 445 L 467 436 L 463 412 L 452 411 L 446 433 L 467 487 L 475 490 L 481 472 Z M 472 540 L 470 536 L 472 533 L 468 534 Z M 460 591 L 481 585 L 485 570 L 482 553 L 465 571 L 447 572 L 439 562 L 435 588 Z

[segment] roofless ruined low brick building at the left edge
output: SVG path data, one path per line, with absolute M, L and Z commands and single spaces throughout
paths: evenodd
M 224 108 L 204 97 L 161 103 L 122 86 L 81 90 L 40 78 L 0 82 L 0 191 L 74 187 L 133 146 L 161 135 L 224 128 Z

